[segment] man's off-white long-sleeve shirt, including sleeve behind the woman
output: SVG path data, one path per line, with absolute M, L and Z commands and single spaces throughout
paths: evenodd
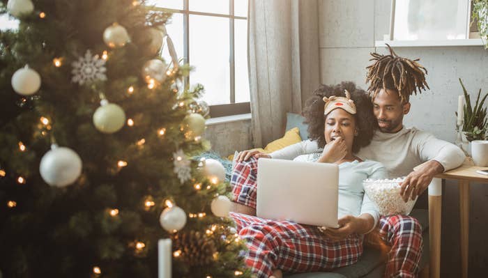
M 270 153 L 273 158 L 291 160 L 298 155 L 321 151 L 317 141 L 305 140 Z M 444 171 L 459 167 L 466 158 L 463 151 L 432 134 L 416 128 L 402 128 L 396 133 L 376 130 L 371 144 L 356 154 L 362 160 L 375 160 L 385 165 L 390 178 L 407 176 L 413 167 L 436 160 Z

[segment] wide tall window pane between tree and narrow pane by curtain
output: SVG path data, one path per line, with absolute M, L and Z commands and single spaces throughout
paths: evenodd
M 190 84 L 205 87 L 208 105 L 230 103 L 229 19 L 190 15 Z

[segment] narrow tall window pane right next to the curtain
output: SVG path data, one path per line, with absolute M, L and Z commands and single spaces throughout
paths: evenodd
M 234 22 L 234 61 L 236 63 L 236 102 L 250 101 L 247 75 L 247 20 Z

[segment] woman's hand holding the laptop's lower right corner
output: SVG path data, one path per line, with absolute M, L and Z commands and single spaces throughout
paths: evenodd
M 320 227 L 319 230 L 331 240 L 343 240 L 353 233 L 367 233 L 374 226 L 374 218 L 369 214 L 363 214 L 359 217 L 346 215 L 337 221 L 339 228 Z

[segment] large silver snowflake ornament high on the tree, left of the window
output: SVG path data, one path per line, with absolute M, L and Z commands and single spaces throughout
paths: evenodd
M 90 49 L 86 50 L 85 55 L 79 57 L 78 61 L 73 62 L 71 65 L 73 66 L 71 82 L 83 85 L 94 81 L 107 80 L 105 60 L 100 59 L 98 55 L 93 56 Z

